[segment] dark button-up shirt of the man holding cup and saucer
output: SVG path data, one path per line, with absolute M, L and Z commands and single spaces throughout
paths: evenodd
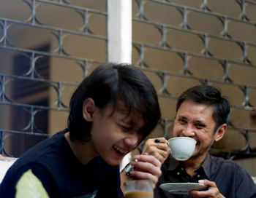
M 184 166 L 173 157 L 168 157 L 162 165 L 162 175 L 154 189 L 155 198 L 191 197 L 189 194 L 170 194 L 159 188 L 161 183 L 197 183 L 201 179 L 214 181 L 224 197 L 256 197 L 256 186 L 244 167 L 231 160 L 208 155 L 203 164 L 191 177 Z

